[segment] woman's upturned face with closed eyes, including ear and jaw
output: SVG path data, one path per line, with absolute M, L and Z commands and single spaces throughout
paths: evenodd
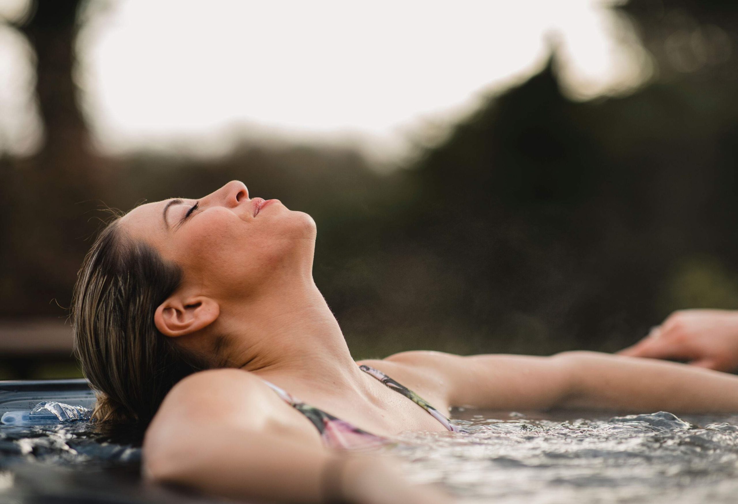
M 254 216 L 258 201 L 235 181 L 201 199 L 171 201 L 142 205 L 121 219 L 134 239 L 153 245 L 184 271 L 181 289 L 156 311 L 163 334 L 193 336 L 179 344 L 205 353 L 214 334 L 233 336 L 235 343 L 248 334 L 243 354 L 240 348 L 227 352 L 229 365 L 240 367 L 254 356 L 268 356 L 260 342 L 274 342 L 270 326 L 280 324 L 265 319 L 303 310 L 314 318 L 314 304 L 323 298 L 311 276 L 315 223 L 309 215 L 271 200 Z M 275 332 L 283 334 L 278 327 Z

